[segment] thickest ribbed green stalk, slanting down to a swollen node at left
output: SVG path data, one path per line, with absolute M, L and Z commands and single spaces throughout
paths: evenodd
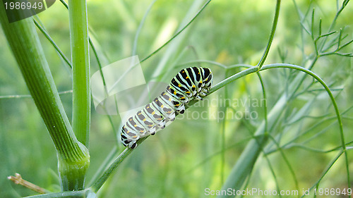
M 0 0 L 1 25 L 25 83 L 54 142 L 63 190 L 83 188 L 88 150 L 78 142 L 54 85 L 32 18 L 8 23 Z

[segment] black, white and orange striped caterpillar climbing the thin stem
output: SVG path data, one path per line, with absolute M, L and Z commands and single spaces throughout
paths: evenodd
M 184 113 L 191 100 L 202 100 L 212 84 L 209 68 L 184 68 L 172 79 L 167 89 L 153 99 L 143 110 L 128 118 L 121 128 L 121 142 L 125 147 L 136 148 L 141 137 L 155 135 L 175 120 L 176 113 Z

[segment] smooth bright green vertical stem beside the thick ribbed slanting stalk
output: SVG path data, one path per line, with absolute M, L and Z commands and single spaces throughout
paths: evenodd
M 73 132 L 88 147 L 90 138 L 90 54 L 85 0 L 68 1 L 73 68 Z

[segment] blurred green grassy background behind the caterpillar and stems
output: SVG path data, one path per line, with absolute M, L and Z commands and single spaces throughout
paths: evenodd
M 131 56 L 133 42 L 140 21 L 143 19 L 148 6 L 152 1 L 112 1 L 89 0 L 88 21 L 91 36 L 100 54 L 103 66 Z M 179 30 L 196 14 L 205 1 L 156 1 L 148 17 L 145 19 L 138 42 L 136 54 L 140 60 L 166 42 L 174 32 Z M 339 1 L 339 5 L 342 1 Z M 323 32 L 328 30 L 336 13 L 336 1 L 297 1 L 297 6 L 303 14 L 309 9 L 309 19 L 312 6 L 316 9 L 314 18 L 314 32 L 318 33 L 318 21 L 322 18 Z M 191 9 L 191 11 L 189 11 Z M 190 27 L 180 37 L 174 39 L 166 48 L 152 56 L 141 65 L 146 80 L 151 78 L 152 72 L 158 64 L 167 60 L 166 68 L 174 67 L 166 73 L 164 81 L 170 80 L 182 63 L 195 60 L 208 60 L 222 63 L 226 66 L 246 63 L 255 66 L 260 60 L 267 44 L 272 25 L 275 1 L 211 1 Z M 68 30 L 68 11 L 59 2 L 47 11 L 39 14 L 47 32 L 54 39 L 66 56 L 70 57 L 70 37 Z M 346 42 L 352 35 L 352 3 L 342 11 L 337 18 L 334 30 L 345 28 Z M 309 24 L 305 20 L 304 25 Z M 350 26 L 349 26 L 350 25 Z M 1 30 L 2 31 L 2 30 Z M 53 192 L 59 191 L 57 160 L 54 145 L 50 140 L 45 125 L 30 97 L 25 82 L 16 66 L 3 32 L 0 31 L 0 194 L 1 197 L 24 197 L 36 194 L 31 190 L 14 185 L 7 180 L 8 175 L 20 173 L 24 179 L 44 187 Z M 307 66 L 304 58 L 313 54 L 313 42 L 306 32 L 304 42 L 301 40 L 301 24 L 293 1 L 282 1 L 280 19 L 271 47 L 269 57 L 265 63 L 282 63 L 278 49 L 287 56 L 285 63 Z M 324 32 L 326 33 L 326 32 Z M 51 44 L 38 31 L 47 61 L 52 70 L 54 81 L 59 92 L 71 90 L 71 71 L 61 60 Z M 337 34 L 336 34 L 337 35 Z M 301 46 L 304 44 L 304 46 Z M 304 49 L 301 51 L 301 49 Z M 352 45 L 343 51 L 352 52 Z M 170 53 L 170 54 L 168 54 Z M 166 59 L 165 59 L 166 58 Z M 91 73 L 98 70 L 97 61 L 91 51 Z M 334 92 L 339 109 L 347 110 L 343 118 L 346 142 L 352 142 L 353 113 L 352 107 L 352 58 L 344 56 L 326 56 L 319 59 L 313 69 L 330 87 L 337 89 Z M 225 70 L 219 66 L 203 63 L 215 75 L 214 84 L 225 79 L 239 70 Z M 289 70 L 268 70 L 262 73 L 267 93 L 268 109 L 275 104 L 276 99 L 290 83 L 287 75 L 296 75 Z M 301 89 L 311 83 L 311 78 L 304 81 Z M 313 88 L 322 88 L 314 85 Z M 300 92 L 300 91 L 299 91 Z M 18 96 L 16 98 L 6 96 Z M 256 75 L 237 80 L 227 87 L 208 97 L 208 101 L 217 99 L 261 99 L 261 84 Z M 307 101 L 310 110 L 305 111 Z M 66 113 L 71 118 L 71 94 L 61 94 Z M 191 107 L 186 116 L 177 118 L 162 132 L 148 138 L 131 156 L 124 161 L 119 170 L 112 175 L 106 185 L 100 190 L 100 197 L 205 197 L 205 188 L 219 190 L 227 179 L 232 166 L 237 161 L 241 151 L 249 142 L 251 134 L 263 120 L 262 106 L 234 106 L 234 111 L 244 113 L 256 112 L 258 117 L 249 118 L 196 118 L 202 112 L 210 115 L 213 111 L 225 112 L 220 104 L 207 105 L 203 103 Z M 309 108 L 308 108 L 309 109 Z M 303 110 L 301 118 L 293 115 Z M 228 109 L 227 112 L 232 111 Z M 196 113 L 194 113 L 196 112 Z M 189 117 L 187 116 L 189 115 Z M 194 115 L 194 117 L 192 116 Z M 275 128 L 275 134 L 283 134 L 280 145 L 291 140 L 301 131 L 308 130 L 318 123 L 316 116 L 327 118 L 318 128 L 302 135 L 297 143 L 304 142 L 307 147 L 328 150 L 340 146 L 340 135 L 330 99 L 325 92 L 306 92 L 294 101 L 288 101 L 281 126 Z M 193 117 L 193 118 L 192 118 Z M 200 117 L 200 116 L 199 116 Z M 321 119 L 320 117 L 320 119 Z M 119 128 L 119 116 L 112 116 L 114 127 Z M 291 123 L 301 120 L 299 123 Z M 225 144 L 222 144 L 222 132 L 225 135 Z M 92 125 L 90 133 L 90 169 L 86 182 L 100 167 L 102 161 L 115 145 L 116 131 L 112 130 L 107 116 L 97 114 L 92 107 Z M 235 144 L 239 142 L 239 144 Z M 223 147 L 234 145 L 226 151 Z M 349 147 L 349 145 L 347 146 Z M 350 144 L 352 147 L 352 144 Z M 268 145 L 265 151 L 275 149 Z M 321 178 L 325 168 L 334 159 L 337 152 L 313 152 L 308 149 L 293 147 L 284 149 L 284 154 L 292 166 L 299 190 L 311 187 Z M 352 150 L 348 150 L 349 167 L 353 170 Z M 268 161 L 263 156 L 258 159 L 253 175 L 249 180 L 249 187 L 263 190 L 276 189 L 279 185 L 282 190 L 294 190 L 295 180 L 280 152 L 268 154 L 268 159 L 275 171 L 276 179 L 270 172 Z M 353 172 L 351 172 L 352 175 Z M 352 177 L 351 177 L 352 178 Z M 353 180 L 351 180 L 351 183 Z M 351 184 L 351 185 L 352 185 Z M 347 187 L 347 173 L 343 157 L 335 162 L 333 168 L 323 178 L 323 187 Z

